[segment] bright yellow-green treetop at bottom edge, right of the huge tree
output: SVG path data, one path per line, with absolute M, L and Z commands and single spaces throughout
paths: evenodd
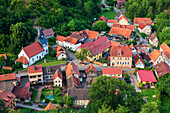
M 159 113 L 158 105 L 156 102 L 148 102 L 142 106 L 140 113 Z

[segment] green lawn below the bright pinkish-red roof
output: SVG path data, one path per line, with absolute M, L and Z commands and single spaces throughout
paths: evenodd
M 148 97 L 148 101 L 156 101 L 156 99 L 153 99 L 153 95 L 157 94 L 157 90 L 156 89 L 142 89 L 141 94 L 144 95 L 145 97 Z

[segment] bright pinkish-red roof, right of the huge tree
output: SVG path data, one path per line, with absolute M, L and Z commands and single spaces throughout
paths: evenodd
M 144 82 L 157 82 L 155 75 L 151 70 L 137 70 L 139 78 Z

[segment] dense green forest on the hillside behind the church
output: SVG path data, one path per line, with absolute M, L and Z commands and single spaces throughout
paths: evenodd
M 0 52 L 18 54 L 34 42 L 35 26 L 53 28 L 67 36 L 70 31 L 91 29 L 101 10 L 97 0 L 0 0 Z

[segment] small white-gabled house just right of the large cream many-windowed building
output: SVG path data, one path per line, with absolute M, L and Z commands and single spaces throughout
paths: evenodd
M 138 53 L 134 56 L 134 63 L 135 63 L 135 67 L 139 67 L 139 68 L 145 67 L 145 62 L 143 61 L 142 57 Z

